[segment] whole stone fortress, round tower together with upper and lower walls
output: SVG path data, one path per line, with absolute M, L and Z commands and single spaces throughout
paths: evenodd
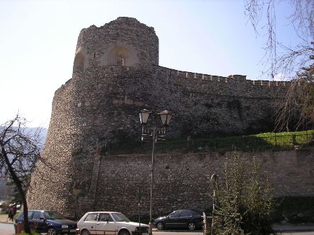
M 135 215 L 140 187 L 142 211 L 147 213 L 150 157 L 109 157 L 102 151 L 110 144 L 140 138 L 138 111 L 148 108 L 175 113 L 170 136 L 265 131 L 273 127 L 272 104 L 286 88 L 283 82 L 158 66 L 158 37 L 152 27 L 134 18 L 118 17 L 103 27 L 83 29 L 73 76 L 55 92 L 44 161 L 38 162 L 27 194 L 29 208 L 52 209 L 70 217 L 74 212 L 82 215 L 102 210 Z M 291 172 L 296 176 L 278 189 L 282 194 L 289 192 L 282 190 L 284 187 L 300 189 L 299 180 L 308 178 L 310 170 L 299 171 L 299 167 L 313 166 L 308 155 L 287 155 L 291 156 L 285 159 L 270 153 L 266 157 L 266 171 L 273 176 L 274 185 L 280 181 L 276 171 L 284 178 Z M 221 157 L 212 153 L 157 159 L 156 212 L 207 207 L 207 174 L 219 169 Z M 287 168 L 286 161 L 292 162 Z M 292 193 L 313 194 L 313 183 L 306 182 L 308 192 L 300 189 Z M 79 197 L 74 197 L 78 192 Z

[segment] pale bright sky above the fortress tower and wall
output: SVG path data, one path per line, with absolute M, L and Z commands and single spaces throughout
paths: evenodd
M 293 42 L 291 9 L 280 4 L 278 36 Z M 29 127 L 48 127 L 55 90 L 71 78 L 79 32 L 120 16 L 155 29 L 161 66 L 259 79 L 266 38 L 254 33 L 244 0 L 0 0 L 0 124 L 19 112 Z

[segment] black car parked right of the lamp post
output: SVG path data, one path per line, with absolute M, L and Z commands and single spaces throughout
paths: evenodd
M 203 217 L 199 211 L 177 210 L 167 216 L 156 218 L 153 225 L 159 230 L 163 229 L 189 229 L 195 230 L 202 227 Z

